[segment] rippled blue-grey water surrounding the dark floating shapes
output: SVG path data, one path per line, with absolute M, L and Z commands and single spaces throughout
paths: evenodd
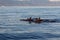
M 60 20 L 60 8 L 0 7 L 0 40 L 60 40 L 60 21 L 31 23 L 25 18 Z

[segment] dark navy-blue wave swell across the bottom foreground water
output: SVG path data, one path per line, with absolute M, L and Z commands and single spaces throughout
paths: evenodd
M 60 34 L 50 34 L 50 33 L 23 33 L 23 34 L 0 34 L 0 39 L 40 39 L 47 40 L 51 38 L 60 38 Z

